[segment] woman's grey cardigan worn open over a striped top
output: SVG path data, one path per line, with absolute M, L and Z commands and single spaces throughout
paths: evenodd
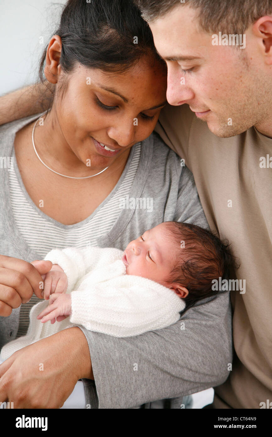
M 41 256 L 28 247 L 15 225 L 8 169 L 3 163 L 11 156 L 15 133 L 37 117 L 0 128 L 0 253 L 29 262 Z M 130 163 L 129 158 L 127 166 Z M 121 180 L 122 176 L 118 183 Z M 138 170 L 127 195 L 152 198 L 153 210 L 121 209 L 110 232 L 97 240 L 98 246 L 124 250 L 146 229 L 165 221 L 208 227 L 192 173 L 155 133 L 142 142 Z M 0 317 L 0 347 L 15 339 L 19 311 Z M 158 399 L 182 398 L 219 385 L 229 375 L 232 340 L 228 291 L 198 302 L 172 326 L 139 336 L 117 338 L 79 327 L 89 344 L 95 379 L 83 379 L 89 408 L 133 408 Z M 175 404 L 179 408 L 179 402 Z

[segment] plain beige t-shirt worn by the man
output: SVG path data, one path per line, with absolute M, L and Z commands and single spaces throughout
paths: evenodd
M 260 408 L 272 401 L 272 139 L 254 127 L 219 138 L 187 104 L 167 105 L 155 130 L 185 159 L 210 228 L 241 262 L 241 287 L 231 291 L 234 361 L 214 407 Z

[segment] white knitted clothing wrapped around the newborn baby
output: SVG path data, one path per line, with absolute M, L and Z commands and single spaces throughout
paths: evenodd
M 48 301 L 39 302 L 31 309 L 26 336 L 7 343 L 1 357 L 5 360 L 16 350 L 71 326 L 128 337 L 176 323 L 185 302 L 155 281 L 126 274 L 122 254 L 119 249 L 99 247 L 49 252 L 45 260 L 59 264 L 68 277 L 72 315 L 53 325 L 41 323 L 36 317 Z

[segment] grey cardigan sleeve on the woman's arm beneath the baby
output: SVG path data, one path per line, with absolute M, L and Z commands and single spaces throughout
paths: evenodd
M 220 385 L 230 373 L 228 291 L 154 332 L 117 338 L 81 329 L 90 348 L 99 408 L 127 409 L 182 397 Z

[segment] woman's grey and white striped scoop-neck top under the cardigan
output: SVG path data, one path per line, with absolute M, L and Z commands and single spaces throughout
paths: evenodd
M 121 212 L 120 198 L 124 198 L 131 190 L 141 155 L 140 142 L 135 144 L 131 153 L 130 166 L 123 183 L 114 195 L 110 194 L 102 203 L 102 207 L 97 208 L 82 222 L 60 226 L 59 222 L 45 215 L 29 197 L 17 166 L 14 148 L 12 149 L 14 170 L 9 172 L 9 184 L 14 221 L 23 239 L 32 250 L 41 254 L 41 259 L 52 249 L 64 249 L 65 247 L 81 249 L 88 245 L 97 246 L 96 239 L 110 231 Z M 21 306 L 16 338 L 26 334 L 30 309 L 38 301 L 39 298 L 33 295 L 27 304 Z

